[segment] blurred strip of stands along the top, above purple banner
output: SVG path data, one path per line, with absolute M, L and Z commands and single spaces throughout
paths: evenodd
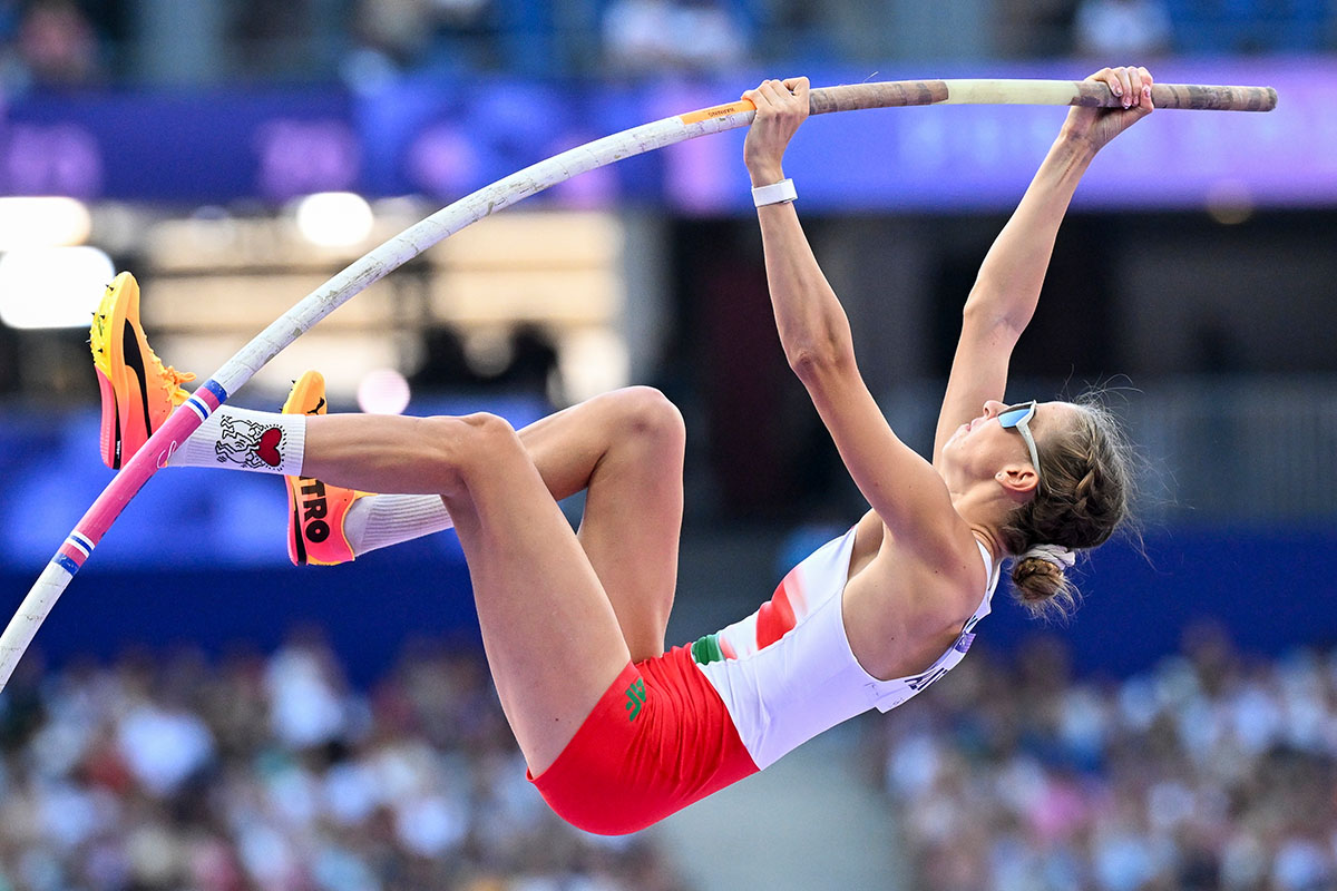
M 9 92 L 1333 49 L 1326 0 L 0 0 Z

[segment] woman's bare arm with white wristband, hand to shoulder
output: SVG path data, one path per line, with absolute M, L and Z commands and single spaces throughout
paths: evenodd
M 808 80 L 767 80 L 745 94 L 757 104 L 743 158 L 753 186 L 783 179 L 781 158 L 808 116 Z M 941 477 L 888 426 L 854 362 L 849 319 L 826 282 L 790 203 L 757 208 L 775 327 L 845 466 L 902 545 L 927 557 L 969 541 Z M 959 561 L 945 561 L 956 565 Z

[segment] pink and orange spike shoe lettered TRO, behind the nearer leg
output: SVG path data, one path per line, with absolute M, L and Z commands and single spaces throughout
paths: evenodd
M 325 378 L 306 371 L 293 385 L 283 414 L 325 414 Z M 297 566 L 334 566 L 356 556 L 344 534 L 344 517 L 365 492 L 328 486 L 312 477 L 287 481 L 287 557 Z

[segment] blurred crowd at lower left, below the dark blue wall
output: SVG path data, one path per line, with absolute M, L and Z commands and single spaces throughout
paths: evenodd
M 562 823 L 472 648 L 413 647 L 368 693 L 299 639 L 127 656 L 0 695 L 0 888 L 671 891 L 638 836 Z

